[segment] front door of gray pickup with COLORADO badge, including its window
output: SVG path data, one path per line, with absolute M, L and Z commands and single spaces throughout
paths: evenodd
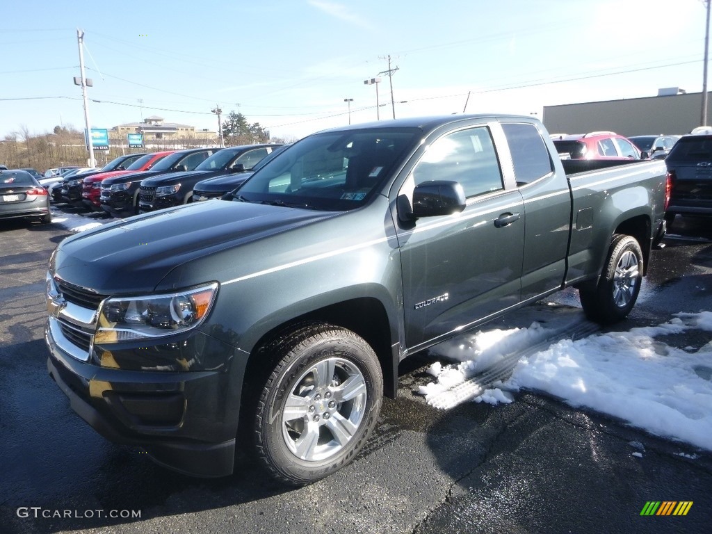
M 496 127 L 496 126 L 495 126 Z M 523 200 L 505 189 L 490 125 L 446 133 L 427 147 L 399 194 L 429 180 L 459 182 L 459 214 L 399 226 L 409 350 L 520 302 Z

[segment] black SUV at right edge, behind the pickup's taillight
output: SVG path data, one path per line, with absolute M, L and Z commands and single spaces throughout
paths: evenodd
M 712 216 L 712 133 L 683 135 L 665 164 L 670 173 L 669 225 L 676 215 Z

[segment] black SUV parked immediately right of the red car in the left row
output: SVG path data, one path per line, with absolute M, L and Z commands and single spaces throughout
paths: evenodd
M 150 170 L 107 178 L 101 182 L 101 207 L 112 216 L 125 217 L 139 212 L 139 186 L 146 178 L 169 172 L 192 171 L 219 148 L 189 148 L 178 150 L 161 159 Z

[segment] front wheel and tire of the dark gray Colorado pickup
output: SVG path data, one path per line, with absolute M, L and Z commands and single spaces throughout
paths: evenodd
M 262 389 L 254 431 L 271 476 L 303 486 L 349 464 L 381 409 L 383 376 L 370 345 L 350 330 L 310 323 L 264 352 L 278 364 Z

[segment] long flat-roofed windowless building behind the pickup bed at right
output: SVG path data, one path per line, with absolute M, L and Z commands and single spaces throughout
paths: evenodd
M 675 88 L 677 89 L 677 88 Z M 552 133 L 612 131 L 633 135 L 681 135 L 700 126 L 702 93 L 666 94 L 644 98 L 544 106 L 542 122 Z M 679 93 L 678 90 L 675 93 Z M 707 93 L 709 95 L 712 93 Z M 706 124 L 711 124 L 709 99 Z

